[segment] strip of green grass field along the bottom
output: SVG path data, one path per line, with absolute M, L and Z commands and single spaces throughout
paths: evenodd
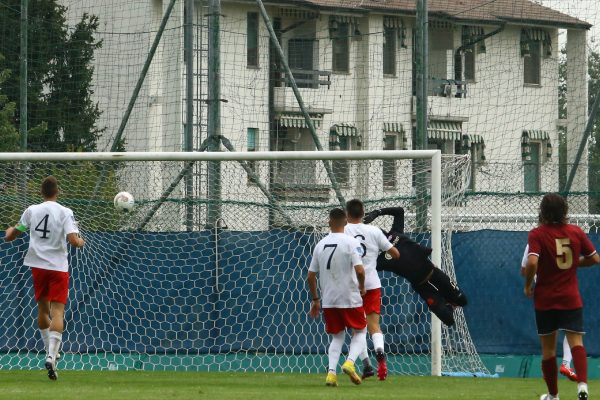
M 60 371 L 52 382 L 45 371 L 0 371 L 0 399 L 525 400 L 545 392 L 542 379 L 393 376 L 355 386 L 342 374 L 337 388 L 324 380 L 315 374 Z M 575 383 L 561 379 L 559 388 L 561 398 L 576 398 Z M 598 390 L 600 382 L 590 382 L 592 396 Z

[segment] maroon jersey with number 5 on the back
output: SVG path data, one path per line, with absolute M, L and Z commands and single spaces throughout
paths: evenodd
M 539 257 L 533 292 L 536 310 L 573 310 L 583 307 L 577 284 L 579 256 L 596 250 L 576 225 L 545 224 L 529 232 L 529 254 Z

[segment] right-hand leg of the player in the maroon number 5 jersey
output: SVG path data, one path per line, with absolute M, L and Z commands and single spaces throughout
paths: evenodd
M 583 346 L 583 309 L 561 310 L 561 328 L 571 346 L 573 365 L 577 373 L 577 392 L 579 400 L 587 400 L 587 353 Z

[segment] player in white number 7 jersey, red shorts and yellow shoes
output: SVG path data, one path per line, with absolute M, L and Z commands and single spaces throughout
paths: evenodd
M 342 370 L 359 385 L 360 376 L 354 362 L 367 346 L 367 320 L 361 294 L 365 289 L 365 270 L 362 265 L 360 243 L 344 234 L 346 213 L 340 208 L 329 213 L 331 233 L 315 246 L 308 269 L 308 288 L 312 295 L 310 316 L 317 318 L 323 303 L 325 330 L 331 335 L 329 369 L 325 384 L 337 386 L 337 364 L 342 353 L 346 328 L 353 329 L 348 358 Z M 321 297 L 317 293 L 317 274 L 321 283 Z

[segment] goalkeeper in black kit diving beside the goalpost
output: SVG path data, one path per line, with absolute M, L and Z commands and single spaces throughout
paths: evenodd
M 368 224 L 381 215 L 394 217 L 389 232 L 383 231 L 390 242 L 400 251 L 399 259 L 377 258 L 378 271 L 390 271 L 405 278 L 427 303 L 427 306 L 446 325 L 454 325 L 454 307 L 467 305 L 467 298 L 460 288 L 429 259 L 431 249 L 404 235 L 404 209 L 382 208 L 366 214 L 363 222 Z

